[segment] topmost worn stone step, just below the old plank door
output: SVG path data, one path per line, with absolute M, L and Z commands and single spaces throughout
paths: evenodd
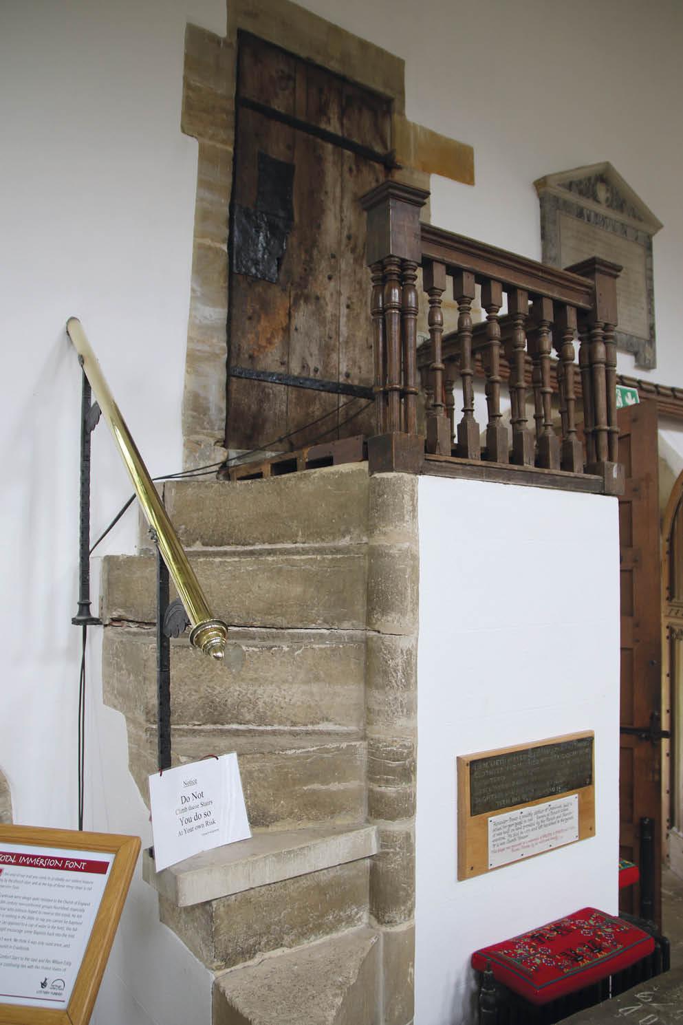
M 367 463 L 263 481 L 168 481 L 166 509 L 186 547 L 360 543 L 367 538 Z

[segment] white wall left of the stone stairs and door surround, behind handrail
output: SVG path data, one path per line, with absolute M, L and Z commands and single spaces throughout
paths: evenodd
M 0 766 L 15 821 L 76 826 L 80 316 L 153 474 L 180 466 L 197 145 L 179 130 L 186 23 L 223 0 L 0 4 L 3 538 Z M 93 536 L 130 494 L 103 425 Z M 131 511 L 105 550 L 131 549 Z M 93 588 L 96 608 L 96 581 Z M 86 828 L 150 842 L 122 716 L 88 657 Z M 169 986 L 169 979 L 173 984 Z M 133 883 L 95 1025 L 209 1021 L 207 973 Z

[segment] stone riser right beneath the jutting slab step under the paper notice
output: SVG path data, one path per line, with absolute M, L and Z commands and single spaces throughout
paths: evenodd
M 368 922 L 370 858 L 178 907 L 159 896 L 159 915 L 207 968 L 235 968 Z

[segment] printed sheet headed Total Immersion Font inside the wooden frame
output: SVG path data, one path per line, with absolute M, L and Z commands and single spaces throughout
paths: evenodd
M 0 840 L 0 1003 L 68 1007 L 113 861 Z

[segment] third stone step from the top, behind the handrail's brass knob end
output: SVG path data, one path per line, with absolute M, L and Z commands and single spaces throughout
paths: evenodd
M 171 642 L 171 723 L 241 733 L 358 734 L 365 716 L 365 638 L 360 631 L 234 630 L 244 661 L 207 659 L 187 634 Z M 104 698 L 139 725 L 157 717 L 152 629 L 107 627 Z

